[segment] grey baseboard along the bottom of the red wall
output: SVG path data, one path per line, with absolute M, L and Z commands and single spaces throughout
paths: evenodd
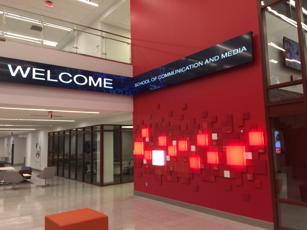
M 212 216 L 237 221 L 237 222 L 240 222 L 240 223 L 243 223 L 243 224 L 253 225 L 253 226 L 256 226 L 256 227 L 259 227 L 259 228 L 265 228 L 265 229 L 270 229 L 270 230 L 274 229 L 273 223 L 263 221 L 263 220 L 257 220 L 257 219 L 253 219 L 253 218 L 249 218 L 249 217 L 243 217 L 243 216 L 232 214 L 232 213 L 226 213 L 226 212 L 223 212 L 223 211 L 219 211 L 219 210 L 215 210 L 215 209 L 209 209 L 209 208 L 202 207 L 202 206 L 199 206 L 199 205 L 193 205 L 193 204 L 189 204 L 189 203 L 185 203 L 185 202 L 181 202 L 181 201 L 176 201 L 176 200 L 172 200 L 172 199 L 165 198 L 165 197 L 159 197 L 159 196 L 156 196 L 156 195 L 151 195 L 151 194 L 138 192 L 138 191 L 134 191 L 134 195 L 140 196 L 140 197 L 145 197 L 145 198 L 155 200 L 155 201 L 160 201 L 160 202 L 167 203 L 167 204 L 170 204 L 170 205 L 175 205 L 175 206 L 178 206 L 178 207 L 181 207 L 181 208 L 191 209 L 191 210 L 194 210 L 194 211 L 197 211 L 197 212 L 206 213 L 206 214 L 209 214 L 209 215 L 212 215 Z

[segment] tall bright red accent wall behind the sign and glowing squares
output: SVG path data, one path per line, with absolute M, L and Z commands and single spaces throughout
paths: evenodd
M 188 171 L 188 179 L 181 180 L 187 174 L 176 173 L 176 179 L 169 168 L 155 168 L 150 162 L 143 164 L 142 156 L 134 156 L 134 190 L 273 222 L 266 148 L 248 146 L 247 134 L 255 130 L 266 133 L 257 0 L 133 0 L 130 11 L 134 75 L 249 31 L 254 33 L 255 59 L 134 96 L 134 141 L 143 140 L 139 137 L 141 128 L 149 127 L 151 133 L 149 142 L 144 142 L 144 150 L 164 149 L 157 144 L 158 135 L 169 136 L 171 143 L 194 139 L 199 128 L 209 136 L 218 133 L 219 140 L 207 149 L 196 149 L 196 154 L 205 160 L 206 150 L 219 151 L 220 172 L 236 171 L 223 164 L 223 146 L 245 143 L 246 150 L 253 154 L 246 169 L 235 174 L 238 176 L 225 178 L 217 175 L 212 165 L 205 165 L 205 169 L 197 172 Z M 231 127 L 230 133 L 223 129 L 225 126 Z M 240 133 L 242 128 L 246 134 Z M 181 154 L 184 156 L 178 153 Z M 189 151 L 185 156 L 193 154 Z M 206 177 L 207 173 L 215 173 L 214 179 Z

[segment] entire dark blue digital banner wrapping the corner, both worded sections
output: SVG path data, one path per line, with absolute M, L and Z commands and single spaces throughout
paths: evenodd
M 0 81 L 136 95 L 253 60 L 249 32 L 134 78 L 0 57 Z

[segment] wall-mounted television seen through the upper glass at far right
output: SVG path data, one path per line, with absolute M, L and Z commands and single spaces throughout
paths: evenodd
M 285 65 L 296 70 L 301 70 L 300 48 L 297 42 L 284 37 Z

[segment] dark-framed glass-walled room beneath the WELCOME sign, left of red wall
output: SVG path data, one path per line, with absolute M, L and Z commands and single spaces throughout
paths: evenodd
M 99 186 L 133 182 L 133 128 L 95 125 L 48 135 L 57 175 Z

